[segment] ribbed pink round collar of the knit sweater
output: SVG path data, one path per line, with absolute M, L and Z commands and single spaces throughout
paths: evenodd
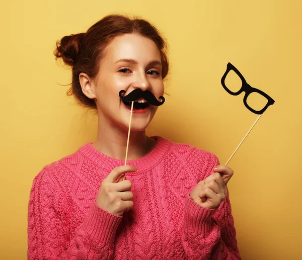
M 172 142 L 160 136 L 152 136 L 151 138 L 157 140 L 156 146 L 143 157 L 134 160 L 128 160 L 128 165 L 135 166 L 137 170 L 146 170 L 148 168 L 154 167 L 164 157 L 164 155 L 170 149 Z M 118 160 L 100 152 L 94 146 L 92 146 L 92 143 L 93 142 L 88 142 L 80 147 L 79 152 L 84 154 L 95 164 L 100 165 L 102 168 L 105 168 L 109 171 L 111 171 L 115 167 L 125 164 L 124 160 Z

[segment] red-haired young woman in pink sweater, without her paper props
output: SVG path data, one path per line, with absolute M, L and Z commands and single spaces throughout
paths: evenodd
M 164 95 L 166 43 L 145 20 L 110 15 L 63 37 L 56 58 L 72 67 L 69 94 L 98 113 L 98 134 L 35 177 L 29 259 L 240 259 L 226 184 L 213 153 L 145 129 L 157 106 L 133 90 Z M 125 174 L 126 179 L 120 178 Z

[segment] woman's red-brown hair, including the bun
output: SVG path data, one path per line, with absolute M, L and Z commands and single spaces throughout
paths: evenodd
M 86 73 L 94 78 L 99 71 L 103 50 L 114 37 L 122 34 L 137 33 L 153 40 L 161 54 L 162 77 L 169 70 L 167 43 L 155 26 L 143 19 L 130 19 L 122 15 L 109 15 L 94 24 L 86 33 L 64 36 L 56 43 L 54 55 L 62 58 L 72 67 L 72 82 L 67 95 L 74 95 L 81 105 L 96 109 L 93 99 L 84 95 L 79 81 L 79 74 Z

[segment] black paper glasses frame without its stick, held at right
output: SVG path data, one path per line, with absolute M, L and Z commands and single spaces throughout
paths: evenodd
M 232 92 L 230 89 L 228 89 L 228 87 L 225 85 L 225 78 L 226 75 L 228 75 L 228 73 L 233 70 L 241 79 L 242 81 L 242 86 L 241 89 L 238 92 Z M 270 106 L 273 105 L 275 103 L 275 101 L 268 96 L 266 93 L 264 93 L 261 90 L 255 89 L 253 88 L 250 84 L 247 83 L 247 81 L 245 80 L 244 76 L 239 72 L 239 70 L 232 65 L 230 62 L 228 63 L 228 65 L 226 65 L 226 71 L 224 72 L 223 76 L 221 77 L 221 85 L 223 86 L 223 89 L 228 92 L 229 94 L 233 95 L 233 96 L 238 96 L 240 95 L 242 92 L 245 92 L 244 98 L 243 98 L 243 103 L 246 106 L 246 108 L 248 110 L 250 110 L 251 112 L 253 112 L 254 114 L 260 115 L 263 114 L 263 112 Z M 247 103 L 247 99 L 249 97 L 249 95 L 251 93 L 258 93 L 261 96 L 263 96 L 264 98 L 267 99 L 267 103 L 266 105 L 261 109 L 261 110 L 255 110 L 252 107 L 250 107 Z

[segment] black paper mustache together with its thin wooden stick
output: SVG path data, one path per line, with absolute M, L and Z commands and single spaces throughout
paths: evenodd
M 137 108 L 146 108 L 148 103 L 153 106 L 161 106 L 165 103 L 165 98 L 160 96 L 159 98 L 162 101 L 158 101 L 158 99 L 153 95 L 150 91 L 142 91 L 141 89 L 135 89 L 131 91 L 127 96 L 123 96 L 126 92 L 121 90 L 119 92 L 120 99 L 125 103 L 125 105 L 130 105 L 131 102 L 131 112 L 130 112 L 130 121 L 129 121 L 129 129 L 128 129 L 128 138 L 127 138 L 127 147 L 126 147 L 126 156 L 125 156 L 125 165 L 127 164 L 127 156 L 128 156 L 128 146 L 129 146 L 129 138 L 130 138 L 130 129 L 131 129 L 131 119 L 133 112 L 133 104 L 135 100 L 139 100 L 143 98 L 147 103 L 137 103 Z M 125 180 L 125 174 L 123 175 L 123 181 Z

